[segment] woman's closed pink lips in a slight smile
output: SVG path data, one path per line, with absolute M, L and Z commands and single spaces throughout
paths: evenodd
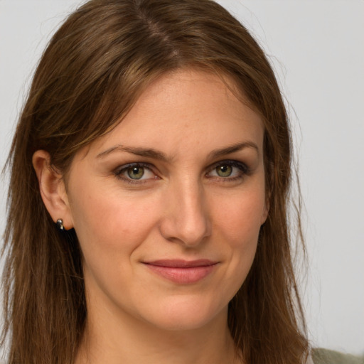
M 205 278 L 213 272 L 218 262 L 209 259 L 182 260 L 161 259 L 153 262 L 144 262 L 146 267 L 156 274 L 177 284 L 193 284 Z

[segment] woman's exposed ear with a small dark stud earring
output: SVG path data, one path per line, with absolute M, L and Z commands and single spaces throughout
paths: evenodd
M 50 164 L 50 155 L 47 151 L 38 150 L 33 154 L 33 168 L 38 177 L 43 203 L 53 221 L 62 219 L 66 230 L 73 228 L 63 176 Z

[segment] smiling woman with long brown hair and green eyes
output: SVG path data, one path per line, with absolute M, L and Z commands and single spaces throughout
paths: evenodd
M 306 363 L 272 68 L 203 0 L 92 0 L 9 156 L 9 363 Z

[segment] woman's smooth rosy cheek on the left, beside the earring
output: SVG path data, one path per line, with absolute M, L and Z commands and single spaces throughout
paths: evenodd
M 87 186 L 77 193 L 74 191 L 75 231 L 89 291 L 90 287 L 102 287 L 112 297 L 110 287 L 125 287 L 132 280 L 130 263 L 137 259 L 134 252 L 154 227 L 157 204 L 154 199 L 141 201 L 116 189 L 103 193 L 95 193 L 95 188 L 94 193 L 90 191 Z

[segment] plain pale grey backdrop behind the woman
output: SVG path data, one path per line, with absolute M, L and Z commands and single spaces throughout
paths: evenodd
M 219 2 L 266 50 L 287 99 L 306 210 L 301 291 L 312 345 L 364 353 L 364 1 Z M 1 166 L 38 58 L 79 4 L 0 0 Z

